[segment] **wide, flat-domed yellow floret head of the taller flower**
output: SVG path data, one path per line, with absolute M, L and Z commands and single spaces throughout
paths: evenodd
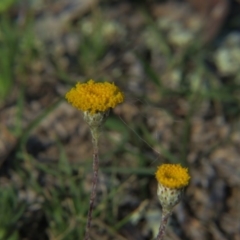
M 65 97 L 77 109 L 91 114 L 105 112 L 124 100 L 123 92 L 114 83 L 93 80 L 77 83 Z

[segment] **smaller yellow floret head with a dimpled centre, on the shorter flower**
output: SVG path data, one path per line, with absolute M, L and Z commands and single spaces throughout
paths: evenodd
M 180 189 L 189 184 L 190 175 L 180 164 L 162 164 L 157 169 L 156 178 L 165 187 Z

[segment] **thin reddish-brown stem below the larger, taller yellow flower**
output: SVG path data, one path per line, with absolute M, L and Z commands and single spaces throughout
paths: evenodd
M 91 196 L 89 201 L 89 210 L 88 210 L 88 217 L 87 217 L 87 224 L 86 224 L 86 233 L 84 240 L 89 240 L 90 235 L 90 228 L 92 222 L 92 211 L 94 207 L 94 202 L 96 198 L 97 192 L 97 183 L 98 183 L 98 168 L 99 168 L 99 154 L 98 154 L 98 137 L 93 135 L 92 132 L 92 141 L 93 141 L 93 180 L 92 180 L 92 190 Z

